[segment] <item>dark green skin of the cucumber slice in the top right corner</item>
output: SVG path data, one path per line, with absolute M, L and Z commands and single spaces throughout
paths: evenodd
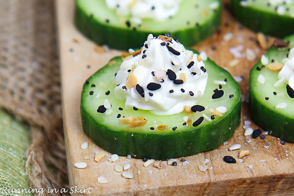
M 250 6 L 241 6 L 239 0 L 231 0 L 234 17 L 249 29 L 266 35 L 283 38 L 294 33 L 294 18 L 276 13 L 255 10 Z M 244 17 L 245 16 L 245 17 Z

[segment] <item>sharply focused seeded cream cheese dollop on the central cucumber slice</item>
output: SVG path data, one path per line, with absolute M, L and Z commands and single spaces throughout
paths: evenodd
M 172 115 L 202 98 L 208 73 L 197 54 L 174 38 L 152 34 L 140 50 L 124 58 L 116 74 L 114 93 L 126 100 L 125 108 Z

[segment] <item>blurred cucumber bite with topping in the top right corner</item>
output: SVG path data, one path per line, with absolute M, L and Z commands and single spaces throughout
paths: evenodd
M 294 1 L 231 0 L 235 18 L 253 31 L 283 38 L 293 34 Z

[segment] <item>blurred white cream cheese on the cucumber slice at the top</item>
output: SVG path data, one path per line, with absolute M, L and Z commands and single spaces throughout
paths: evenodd
M 109 9 L 116 9 L 119 16 L 131 15 L 133 22 L 141 19 L 164 21 L 174 16 L 182 0 L 106 0 Z

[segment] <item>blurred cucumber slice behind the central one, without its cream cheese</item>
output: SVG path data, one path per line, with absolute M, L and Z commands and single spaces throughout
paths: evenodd
M 220 25 L 220 0 L 183 0 L 178 12 L 165 21 L 142 19 L 135 25 L 131 16 L 121 18 L 108 9 L 105 0 L 76 0 L 74 23 L 86 37 L 99 45 L 128 50 L 137 48 L 148 36 L 170 32 L 186 46 L 210 36 Z

